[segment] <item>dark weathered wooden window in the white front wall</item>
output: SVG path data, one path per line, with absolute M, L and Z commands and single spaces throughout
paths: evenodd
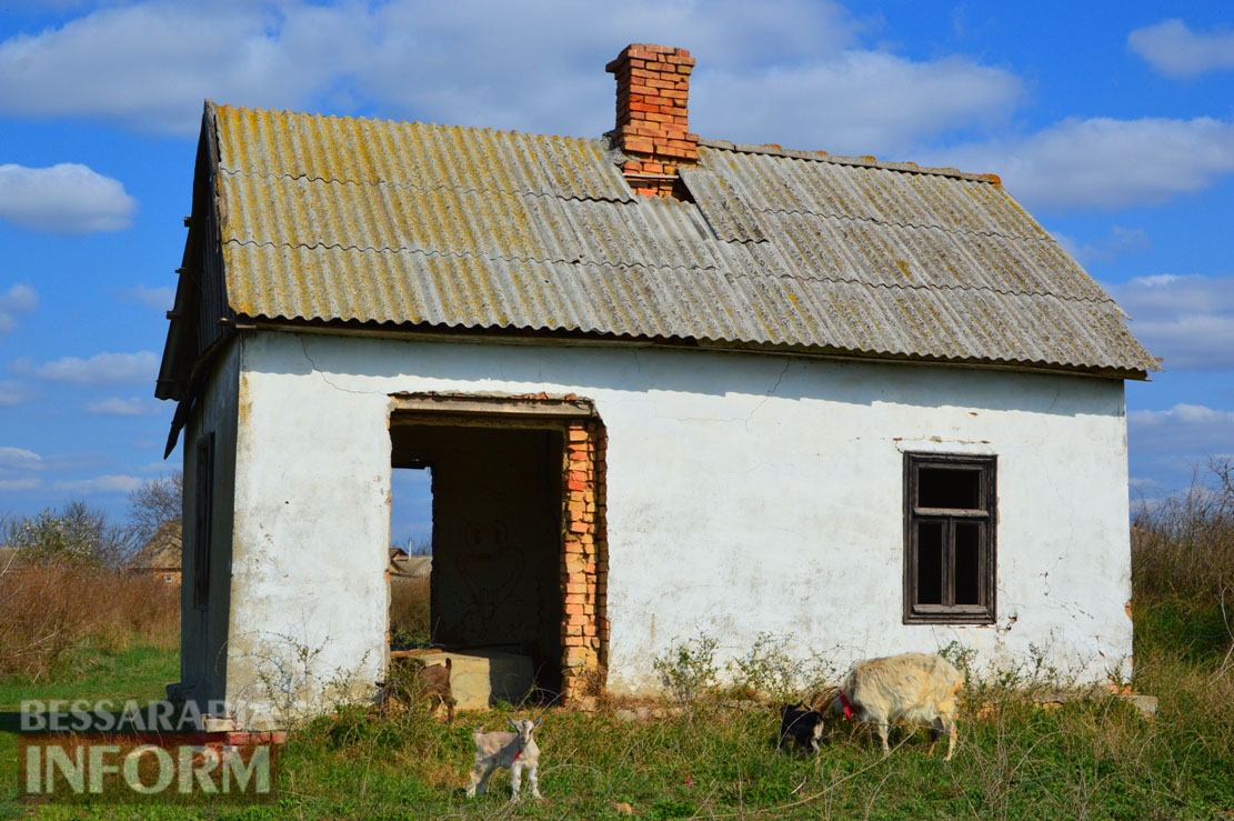
M 905 454 L 905 623 L 995 620 L 997 457 Z

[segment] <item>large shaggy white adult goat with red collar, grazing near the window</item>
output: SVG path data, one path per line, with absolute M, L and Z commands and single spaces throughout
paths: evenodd
M 924 723 L 930 727 L 930 749 L 946 732 L 946 758 L 955 749 L 955 719 L 960 710 L 964 677 L 939 656 L 903 653 L 858 662 L 843 684 L 828 693 L 829 712 L 874 721 L 887 754 L 890 722 Z M 821 705 L 822 706 L 822 705 Z

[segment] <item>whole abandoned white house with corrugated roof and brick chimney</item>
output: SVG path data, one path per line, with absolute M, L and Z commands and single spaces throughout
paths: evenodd
M 157 390 L 185 695 L 380 680 L 426 464 L 433 640 L 568 698 L 703 632 L 1129 664 L 1118 305 L 996 177 L 689 133 L 692 64 L 623 51 L 595 140 L 206 104 Z

